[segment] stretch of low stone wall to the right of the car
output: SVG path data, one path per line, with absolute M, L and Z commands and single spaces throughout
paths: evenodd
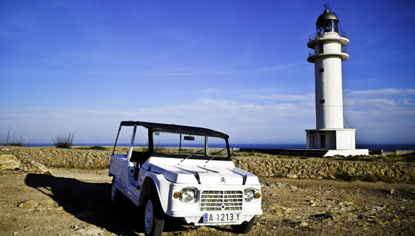
M 259 177 L 405 181 L 415 183 L 415 164 L 381 164 L 369 161 L 237 157 L 234 164 Z

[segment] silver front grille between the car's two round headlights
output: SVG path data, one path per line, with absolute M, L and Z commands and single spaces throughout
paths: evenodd
M 201 211 L 242 210 L 242 191 L 205 190 L 201 194 Z

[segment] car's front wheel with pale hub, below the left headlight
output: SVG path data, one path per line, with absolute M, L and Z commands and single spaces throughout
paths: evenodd
M 151 198 L 147 199 L 144 208 L 144 232 L 147 236 L 159 236 L 163 233 L 164 219 L 158 214 L 158 206 Z

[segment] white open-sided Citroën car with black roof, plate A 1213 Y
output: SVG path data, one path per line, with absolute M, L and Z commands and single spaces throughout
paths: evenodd
M 132 126 L 128 152 L 116 154 L 124 126 Z M 147 129 L 147 140 L 136 144 L 140 126 Z M 109 165 L 111 201 L 122 193 L 143 206 L 145 235 L 161 235 L 169 217 L 248 233 L 255 215 L 262 214 L 261 184 L 234 166 L 228 138 L 208 128 L 122 121 Z

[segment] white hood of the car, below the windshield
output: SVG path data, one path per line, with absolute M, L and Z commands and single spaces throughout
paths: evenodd
M 177 184 L 204 185 L 244 185 L 259 184 L 258 177 L 246 170 L 237 168 L 232 161 L 209 161 L 151 157 L 142 168 L 164 177 Z

